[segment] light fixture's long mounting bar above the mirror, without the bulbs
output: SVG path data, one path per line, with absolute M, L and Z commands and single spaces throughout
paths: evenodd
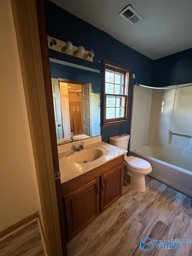
M 56 38 L 53 38 L 49 35 L 47 36 L 47 40 L 48 40 L 49 49 L 55 50 L 55 51 L 60 52 L 60 53 L 68 54 L 68 55 L 71 55 L 71 56 L 79 58 L 79 59 L 84 59 L 84 60 L 93 62 L 92 57 L 86 58 L 86 56 L 89 54 L 89 51 L 87 51 L 87 50 L 85 50 L 85 52 L 83 54 L 76 55 L 75 52 L 78 50 L 78 47 L 73 45 L 73 48 L 71 50 L 68 50 L 67 52 L 63 52 L 63 51 L 61 51 L 61 48 L 65 47 L 66 42 L 61 41 L 61 40 L 56 39 Z M 55 41 L 56 44 L 53 45 L 52 41 L 53 42 Z

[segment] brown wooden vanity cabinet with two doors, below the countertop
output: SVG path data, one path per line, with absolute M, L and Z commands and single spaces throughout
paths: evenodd
M 124 155 L 62 184 L 68 240 L 122 196 Z

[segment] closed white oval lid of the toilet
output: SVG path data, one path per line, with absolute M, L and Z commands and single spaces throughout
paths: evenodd
M 125 156 L 125 162 L 131 166 L 132 168 L 135 168 L 135 169 L 149 169 L 151 167 L 151 164 L 142 159 L 142 158 L 138 158 L 138 157 L 135 157 L 135 156 Z

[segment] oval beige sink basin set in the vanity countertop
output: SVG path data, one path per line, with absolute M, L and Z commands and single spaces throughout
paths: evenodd
M 92 149 L 82 149 L 79 152 L 69 151 L 64 158 L 66 161 L 70 161 L 74 164 L 84 164 L 95 161 L 102 156 L 106 155 L 107 150 L 104 148 L 92 148 Z

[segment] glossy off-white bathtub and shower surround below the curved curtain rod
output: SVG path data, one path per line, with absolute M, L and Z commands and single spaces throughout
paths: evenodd
M 170 86 L 169 86 L 170 87 Z M 192 87 L 134 86 L 132 155 L 152 164 L 156 179 L 192 196 Z

